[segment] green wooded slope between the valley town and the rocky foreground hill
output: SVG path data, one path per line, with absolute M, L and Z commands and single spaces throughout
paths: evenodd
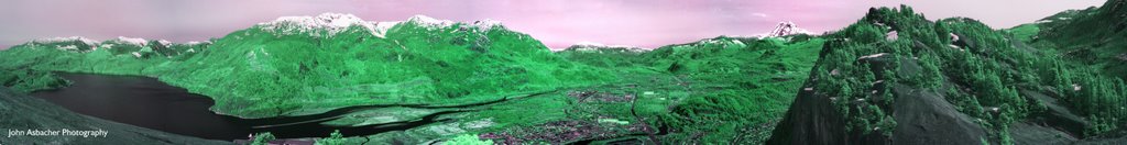
M 770 39 L 718 37 L 644 53 L 612 49 L 560 54 L 619 70 L 620 75 L 674 80 L 628 82 L 663 97 L 660 100 L 673 100 L 667 105 L 671 112 L 653 114 L 653 118 L 660 118 L 653 124 L 674 130 L 662 141 L 761 143 L 806 79 L 823 42 L 805 35 Z M 646 85 L 654 83 L 673 84 Z

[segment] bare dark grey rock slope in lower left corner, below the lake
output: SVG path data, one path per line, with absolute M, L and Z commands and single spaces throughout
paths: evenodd
M 119 123 L 78 115 L 65 108 L 0 87 L 0 126 L 6 129 L 106 130 L 105 137 L 11 136 L 0 144 L 198 144 L 223 145 L 231 142 L 207 141 L 168 134 Z

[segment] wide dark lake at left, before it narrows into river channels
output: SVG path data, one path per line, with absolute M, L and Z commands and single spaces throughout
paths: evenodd
M 211 112 L 215 102 L 157 79 L 59 73 L 72 85 L 32 96 L 71 111 L 123 124 L 208 139 L 246 138 L 249 125 Z M 241 138 L 240 138 L 241 139 Z

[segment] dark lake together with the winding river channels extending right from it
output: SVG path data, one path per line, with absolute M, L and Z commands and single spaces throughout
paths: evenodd
M 33 92 L 32 96 L 87 116 L 207 139 L 246 139 L 249 134 L 261 132 L 270 132 L 279 138 L 325 137 L 337 129 L 345 136 L 373 135 L 445 121 L 437 119 L 438 116 L 460 112 L 437 112 L 419 120 L 360 127 L 322 126 L 320 123 L 355 110 L 381 106 L 349 107 L 299 117 L 242 119 L 216 115 L 208 110 L 214 105 L 211 98 L 190 93 L 183 88 L 168 85 L 152 78 L 59 74 L 73 84 L 56 90 Z

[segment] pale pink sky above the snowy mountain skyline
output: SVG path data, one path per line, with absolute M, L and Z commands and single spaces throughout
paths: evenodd
M 658 47 L 720 35 L 749 36 L 779 21 L 822 33 L 861 18 L 870 7 L 912 6 L 929 19 L 969 17 L 995 28 L 1036 21 L 1100 0 L 6 0 L 0 47 L 35 38 L 117 36 L 206 40 L 282 16 L 353 13 L 366 20 L 414 15 L 500 20 L 553 48 L 579 42 Z

